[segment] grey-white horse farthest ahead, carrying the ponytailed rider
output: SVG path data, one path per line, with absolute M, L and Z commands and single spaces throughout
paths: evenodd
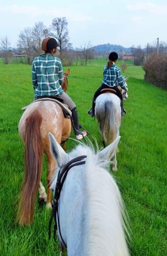
M 124 78 L 126 84 L 128 78 Z M 127 86 L 127 84 L 126 84 Z M 118 86 L 123 94 L 123 100 L 128 98 L 127 92 L 125 92 L 120 86 Z M 120 98 L 115 94 L 105 93 L 98 96 L 96 99 L 95 116 L 98 120 L 99 130 L 102 135 L 104 147 L 114 141 L 114 139 L 120 135 L 121 125 L 121 104 Z M 116 153 L 113 158 L 112 170 L 117 170 Z

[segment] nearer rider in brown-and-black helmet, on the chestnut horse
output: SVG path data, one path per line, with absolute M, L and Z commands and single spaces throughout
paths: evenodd
M 77 108 L 73 100 L 62 90 L 63 69 L 61 60 L 55 57 L 57 41 L 54 37 L 46 37 L 42 42 L 44 54 L 33 60 L 32 83 L 35 91 L 35 99 L 43 97 L 58 97 L 67 104 L 74 121 L 74 133 L 78 140 L 87 135 L 86 131 L 80 131 Z

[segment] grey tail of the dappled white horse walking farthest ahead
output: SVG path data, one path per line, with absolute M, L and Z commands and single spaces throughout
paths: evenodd
M 116 138 L 115 116 L 112 101 L 105 102 L 105 120 L 102 134 L 106 143 L 111 143 Z

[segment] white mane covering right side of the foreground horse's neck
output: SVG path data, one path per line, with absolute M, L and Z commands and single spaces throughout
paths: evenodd
M 103 168 L 89 170 L 89 255 L 128 256 L 126 217 L 120 190 L 113 177 Z

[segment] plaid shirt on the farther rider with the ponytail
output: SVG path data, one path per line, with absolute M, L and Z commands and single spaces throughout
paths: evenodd
M 107 66 L 104 66 L 102 83 L 109 87 L 114 87 L 119 84 L 124 90 L 127 90 L 121 75 L 121 70 L 116 65 L 112 65 L 110 69 L 108 69 Z

